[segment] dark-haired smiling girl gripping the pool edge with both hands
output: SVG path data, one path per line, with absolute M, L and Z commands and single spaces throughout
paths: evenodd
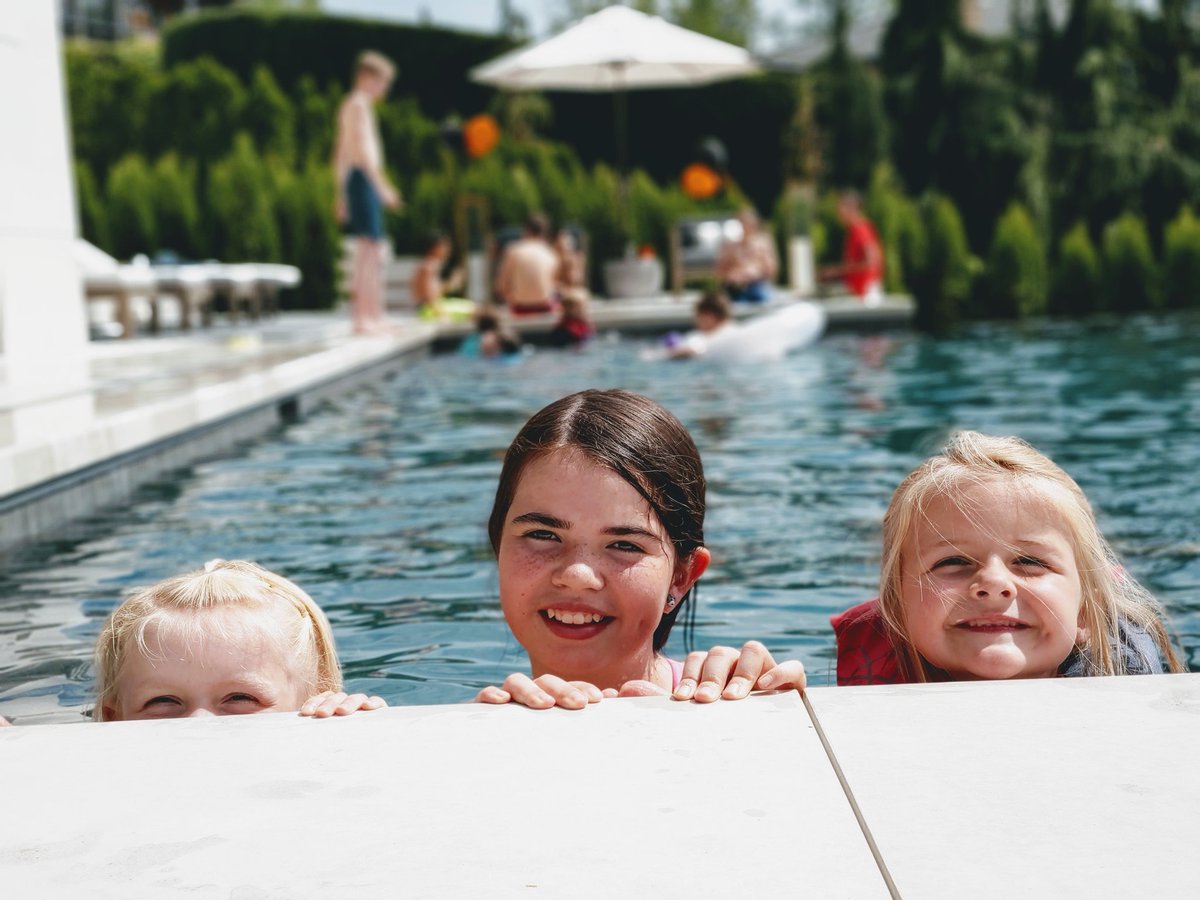
M 704 473 L 691 436 L 654 401 L 587 390 L 536 413 L 504 457 L 488 535 L 500 606 L 533 678 L 476 700 L 545 708 L 602 696 L 737 700 L 804 686 L 750 642 L 679 664 L 667 635 L 708 568 Z

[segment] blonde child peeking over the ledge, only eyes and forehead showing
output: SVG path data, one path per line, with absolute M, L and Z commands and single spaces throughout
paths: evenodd
M 386 706 L 342 691 L 334 635 L 304 590 L 253 563 L 138 592 L 96 640 L 97 721 L 299 710 L 324 718 Z

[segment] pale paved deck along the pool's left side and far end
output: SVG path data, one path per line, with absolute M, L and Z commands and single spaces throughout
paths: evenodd
M 694 294 L 593 304 L 602 331 L 684 329 Z M 912 301 L 876 307 L 832 298 L 828 329 L 906 325 Z M 761 307 L 760 307 L 761 308 Z M 749 307 L 739 314 L 752 314 Z M 554 318 L 515 328 L 532 340 Z M 348 316 L 287 313 L 132 341 L 86 344 L 86 380 L 65 394 L 20 396 L 0 358 L 0 552 L 65 536 L 94 510 L 128 499 L 143 484 L 289 421 L 313 403 L 452 346 L 466 325 L 396 318 L 396 332 L 354 337 Z

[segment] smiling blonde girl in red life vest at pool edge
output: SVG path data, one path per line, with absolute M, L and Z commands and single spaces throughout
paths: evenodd
M 833 625 L 838 684 L 1182 671 L 1079 485 L 1024 440 L 976 432 L 900 482 L 880 598 Z

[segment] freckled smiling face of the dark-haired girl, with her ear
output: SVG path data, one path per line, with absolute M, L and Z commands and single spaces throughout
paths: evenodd
M 498 551 L 500 606 L 534 676 L 600 688 L 654 678 L 654 630 L 708 551 L 676 559 L 646 499 L 577 450 L 526 464 Z

